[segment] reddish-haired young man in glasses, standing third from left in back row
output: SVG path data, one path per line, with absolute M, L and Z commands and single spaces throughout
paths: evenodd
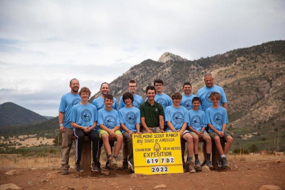
M 137 90 L 137 81 L 132 79 L 132 80 L 129 80 L 128 82 L 128 90 L 129 90 L 129 93 L 131 93 L 133 95 L 133 102 L 132 102 L 132 106 L 133 107 L 136 107 L 136 108 L 139 108 L 140 105 L 143 103 L 143 98 L 140 97 L 139 95 L 136 94 L 136 90 Z M 126 107 L 126 104 L 123 100 L 123 96 L 120 97 L 120 100 L 119 100 L 119 106 L 118 106 L 118 110 L 120 110 L 121 108 L 123 107 Z M 122 166 L 122 170 L 123 169 L 128 169 L 128 146 L 127 146 L 127 143 L 126 141 L 123 142 L 123 166 Z

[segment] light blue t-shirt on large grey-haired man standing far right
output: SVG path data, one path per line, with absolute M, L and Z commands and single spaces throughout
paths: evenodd
M 224 92 L 224 89 L 221 86 L 214 85 L 211 88 L 208 88 L 206 86 L 200 88 L 197 92 L 197 96 L 201 99 L 201 106 L 202 110 L 206 112 L 208 107 L 211 107 L 213 105 L 212 101 L 210 100 L 210 94 L 212 92 L 219 92 L 221 95 L 221 100 L 219 102 L 219 105 L 221 106 L 221 103 L 227 102 L 227 97 Z

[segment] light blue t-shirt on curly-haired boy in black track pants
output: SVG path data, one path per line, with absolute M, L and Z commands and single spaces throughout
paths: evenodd
M 79 103 L 72 107 L 70 122 L 75 122 L 83 127 L 91 127 L 95 121 L 97 121 L 96 106 L 90 103 L 86 105 Z

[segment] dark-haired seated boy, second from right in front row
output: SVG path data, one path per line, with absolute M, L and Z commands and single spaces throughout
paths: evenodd
M 189 120 L 188 123 L 188 129 L 191 131 L 191 135 L 193 137 L 194 141 L 194 156 L 195 156 L 195 169 L 197 171 L 201 171 L 202 167 L 200 165 L 199 157 L 198 157 L 198 142 L 199 139 L 202 138 L 206 141 L 206 165 L 210 168 L 210 170 L 213 170 L 214 167 L 210 161 L 211 157 L 211 146 L 212 146 L 212 140 L 210 135 L 205 131 L 205 112 L 202 110 L 199 110 L 200 107 L 200 98 L 194 97 L 192 99 L 192 110 L 188 110 L 189 114 Z

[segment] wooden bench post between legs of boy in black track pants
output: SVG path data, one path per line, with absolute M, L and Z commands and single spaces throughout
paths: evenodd
M 81 166 L 83 172 L 80 172 L 80 176 L 91 175 L 91 140 L 88 137 L 84 137 L 83 146 L 81 151 Z

